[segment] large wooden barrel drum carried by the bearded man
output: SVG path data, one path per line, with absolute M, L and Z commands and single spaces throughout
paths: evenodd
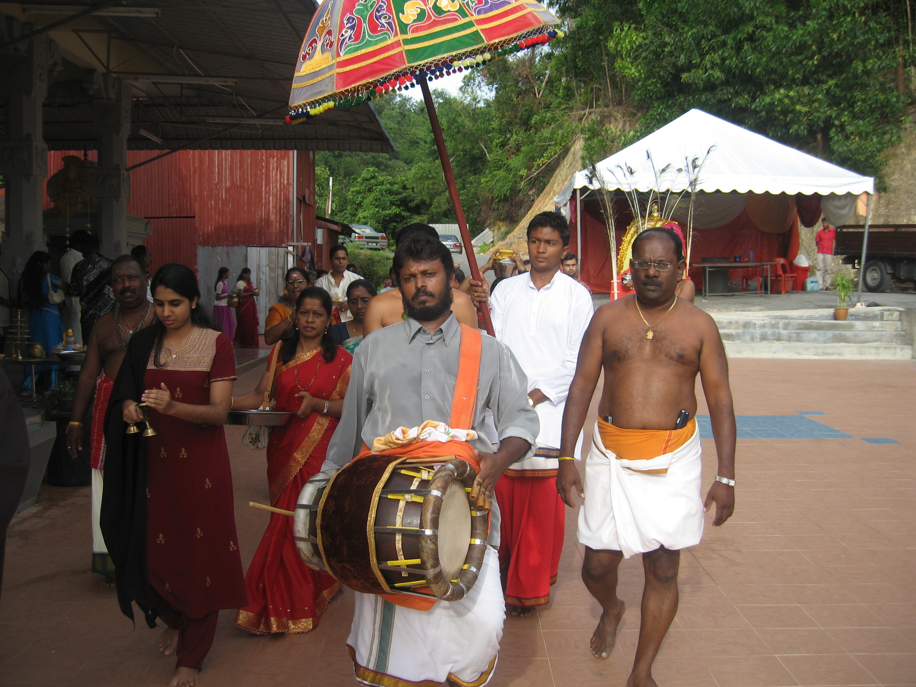
M 458 601 L 486 550 L 487 513 L 468 498 L 475 476 L 454 456 L 368 456 L 316 474 L 294 518 L 302 560 L 357 592 Z

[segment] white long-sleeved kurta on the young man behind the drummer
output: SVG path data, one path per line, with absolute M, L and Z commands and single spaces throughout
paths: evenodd
M 503 279 L 490 298 L 496 339 L 506 344 L 528 376 L 528 391 L 540 389 L 548 398 L 535 406 L 540 420 L 538 445 L 560 447 L 563 409 L 575 375 L 582 337 L 592 321 L 594 305 L 588 290 L 557 270 L 551 283 L 537 289 L 530 273 Z M 582 434 L 576 457 L 582 448 Z M 536 464 L 537 463 L 537 464 Z M 543 464 L 541 464 L 543 463 Z M 555 458 L 529 458 L 515 470 L 554 469 Z

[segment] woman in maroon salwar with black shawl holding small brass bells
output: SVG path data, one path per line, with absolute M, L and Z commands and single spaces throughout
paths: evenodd
M 161 267 L 151 290 L 158 322 L 131 338 L 106 419 L 106 436 L 121 450 L 114 451 L 119 472 L 103 501 L 103 525 L 125 567 L 116 576 L 122 609 L 133 600 L 147 622 L 166 622 L 159 649 L 178 658 L 169 684 L 190 687 L 213 644 L 219 611 L 247 603 L 223 431 L 235 363 L 229 338 L 198 307 L 189 267 Z M 119 407 L 125 422 L 143 429 L 137 400 L 147 406 L 154 436 L 125 435 L 124 424 L 112 421 Z M 138 516 L 144 509 L 146 518 Z M 140 540 L 145 566 L 142 558 L 137 563 Z

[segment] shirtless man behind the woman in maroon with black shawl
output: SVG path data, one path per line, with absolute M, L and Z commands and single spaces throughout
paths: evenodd
M 93 573 L 104 575 L 105 584 L 114 586 L 114 564 L 108 555 L 99 509 L 102 507 L 104 483 L 104 419 L 114 377 L 121 368 L 130 337 L 156 320 L 152 303 L 147 300 L 147 276 L 135 256 L 120 256 L 112 264 L 111 287 L 116 305 L 93 326 L 86 345 L 86 362 L 73 395 L 70 425 L 67 427 L 67 451 L 71 458 L 82 451 L 82 420 L 95 394 L 92 427 L 93 463 Z

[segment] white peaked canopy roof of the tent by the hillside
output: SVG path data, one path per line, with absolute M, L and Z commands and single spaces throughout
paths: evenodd
M 596 172 L 596 173 L 594 173 Z M 582 169 L 556 196 L 567 205 L 573 191 L 698 191 L 693 225 L 721 226 L 744 207 L 753 193 L 819 194 L 831 224 L 845 224 L 862 193 L 874 193 L 875 180 L 823 159 L 691 110 L 632 146 Z M 674 213 L 686 213 L 684 203 Z

